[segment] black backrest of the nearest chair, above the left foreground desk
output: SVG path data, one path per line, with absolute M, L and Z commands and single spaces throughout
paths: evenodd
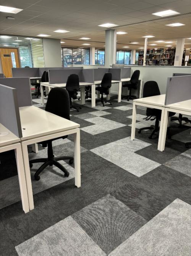
M 66 89 L 55 87 L 50 90 L 45 111 L 70 120 L 70 99 Z

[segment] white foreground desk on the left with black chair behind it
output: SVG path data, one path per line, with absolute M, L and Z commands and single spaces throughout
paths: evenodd
M 75 185 L 81 186 L 80 177 L 80 130 L 79 124 L 56 116 L 35 106 L 20 107 L 21 127 L 25 128 L 21 138 L 29 209 L 34 209 L 31 174 L 27 145 L 38 143 L 69 134 L 74 134 L 74 170 Z

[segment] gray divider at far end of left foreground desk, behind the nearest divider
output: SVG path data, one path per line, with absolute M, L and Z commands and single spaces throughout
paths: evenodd
M 32 106 L 31 84 L 29 78 L 0 78 L 0 84 L 17 90 L 18 106 Z

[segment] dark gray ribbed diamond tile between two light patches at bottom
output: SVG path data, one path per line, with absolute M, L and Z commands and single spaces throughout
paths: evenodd
M 106 254 L 146 224 L 144 218 L 111 195 L 97 200 L 72 217 Z

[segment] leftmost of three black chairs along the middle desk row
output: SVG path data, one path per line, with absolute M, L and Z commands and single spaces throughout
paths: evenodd
M 68 91 L 70 96 L 70 108 L 76 109 L 79 112 L 79 109 L 81 109 L 81 107 L 74 106 L 71 100 L 77 99 L 79 91 L 79 76 L 77 74 L 71 74 L 70 76 L 68 76 L 66 82 L 66 90 Z

